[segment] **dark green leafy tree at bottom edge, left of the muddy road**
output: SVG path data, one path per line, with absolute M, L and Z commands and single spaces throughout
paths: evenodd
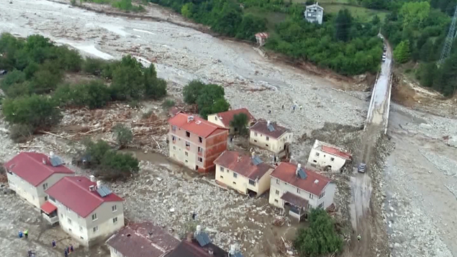
M 300 229 L 294 241 L 300 256 L 325 256 L 340 252 L 342 239 L 335 231 L 335 222 L 323 209 L 309 213 L 309 228 Z

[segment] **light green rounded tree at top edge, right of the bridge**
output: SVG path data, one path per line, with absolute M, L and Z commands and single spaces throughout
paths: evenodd
M 403 27 L 410 24 L 421 25 L 430 13 L 427 1 L 407 2 L 401 6 L 399 15 L 403 18 Z

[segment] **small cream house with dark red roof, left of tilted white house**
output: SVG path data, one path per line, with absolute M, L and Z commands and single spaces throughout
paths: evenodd
M 289 129 L 270 121 L 260 120 L 251 126 L 249 142 L 278 154 L 292 143 L 292 136 Z

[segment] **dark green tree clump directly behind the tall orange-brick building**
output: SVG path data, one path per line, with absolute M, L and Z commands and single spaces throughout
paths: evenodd
M 224 98 L 224 88 L 193 80 L 183 88 L 184 102 L 198 105 L 198 114 L 204 119 L 208 114 L 226 112 L 230 104 Z

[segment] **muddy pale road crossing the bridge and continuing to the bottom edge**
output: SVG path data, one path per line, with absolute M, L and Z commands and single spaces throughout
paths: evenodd
M 381 71 L 373 87 L 370 106 L 363 135 L 363 147 L 358 154 L 359 163 L 367 164 L 366 173 L 357 173 L 351 178 L 352 203 L 351 221 L 354 235 L 352 240 L 352 256 L 370 256 L 373 238 L 378 235 L 376 230 L 380 229 L 373 222 L 374 212 L 371 204 L 371 193 L 373 186 L 371 183 L 370 160 L 376 140 L 382 133 L 387 117 L 390 101 L 388 100 L 390 79 L 392 71 L 392 50 L 387 47 L 387 58 L 382 62 Z M 361 235 L 361 241 L 357 242 L 357 235 Z

